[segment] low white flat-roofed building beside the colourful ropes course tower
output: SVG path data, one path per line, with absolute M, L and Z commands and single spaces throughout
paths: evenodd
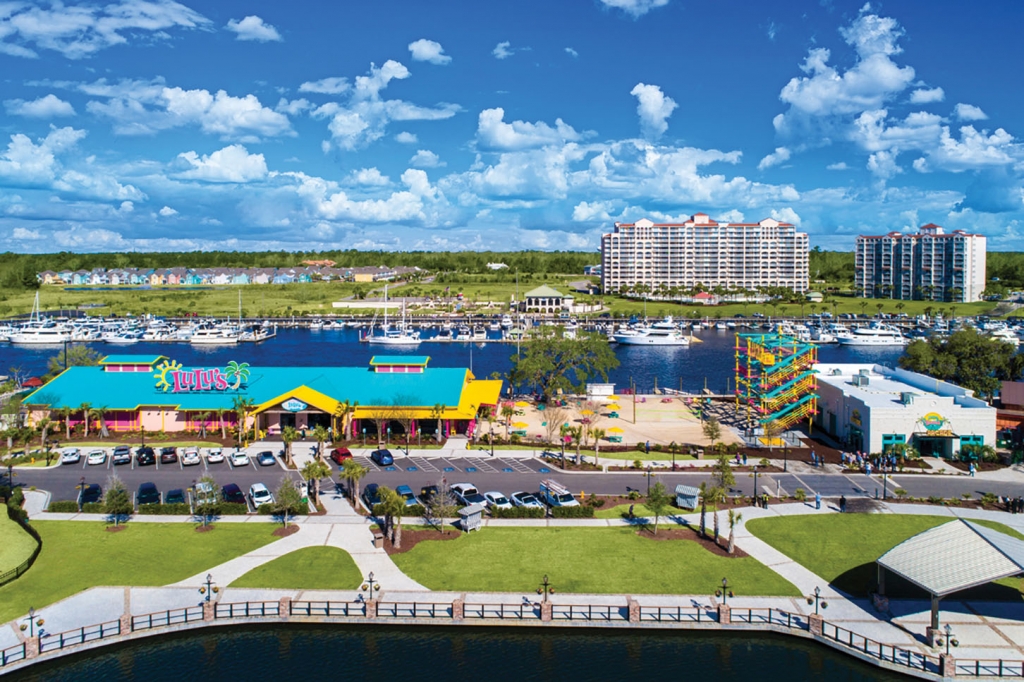
M 931 457 L 962 445 L 995 445 L 995 408 L 974 391 L 881 365 L 815 365 L 816 426 L 851 452 L 882 453 L 897 443 Z

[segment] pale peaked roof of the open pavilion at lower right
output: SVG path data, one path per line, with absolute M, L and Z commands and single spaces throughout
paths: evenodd
M 943 597 L 1024 572 L 1024 541 L 958 519 L 903 541 L 878 563 Z

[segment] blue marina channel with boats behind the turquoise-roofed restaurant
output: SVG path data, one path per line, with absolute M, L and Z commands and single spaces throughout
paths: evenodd
M 618 389 L 631 382 L 641 391 L 655 385 L 695 392 L 705 387 L 715 393 L 731 392 L 735 376 L 734 335 L 705 330 L 699 343 L 689 346 L 614 346 L 621 365 L 609 380 Z M 385 347 L 360 343 L 358 331 L 344 329 L 312 332 L 282 329 L 262 343 L 231 346 L 193 346 L 187 343 L 136 343 L 130 346 L 102 342 L 88 344 L 102 354 L 132 353 L 168 355 L 185 367 L 223 367 L 230 360 L 253 367 L 282 366 L 367 366 L 375 354 L 429 355 L 432 367 L 468 367 L 480 378 L 493 372 L 505 374 L 512 366 L 515 344 L 431 343 L 413 347 Z M 30 376 L 46 372 L 46 361 L 62 351 L 60 346 L 0 346 L 0 374 L 16 367 Z M 851 347 L 822 345 L 818 359 L 823 363 L 877 363 L 893 367 L 903 349 L 898 346 Z

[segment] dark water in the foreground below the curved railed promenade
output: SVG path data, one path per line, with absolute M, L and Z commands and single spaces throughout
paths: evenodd
M 96 649 L 14 681 L 905 680 L 812 642 L 766 634 L 286 626 L 226 629 Z

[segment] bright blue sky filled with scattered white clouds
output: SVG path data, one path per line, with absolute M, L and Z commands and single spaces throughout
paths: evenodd
M 1016 2 L 0 1 L 0 250 L 1018 250 Z

